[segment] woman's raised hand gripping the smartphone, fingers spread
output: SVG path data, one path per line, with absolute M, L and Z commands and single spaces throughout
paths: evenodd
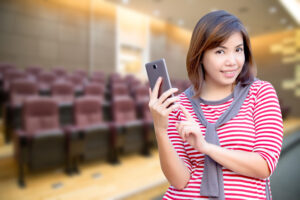
M 170 112 L 179 108 L 179 104 L 175 103 L 179 100 L 179 97 L 174 96 L 169 98 L 169 96 L 178 91 L 177 88 L 171 88 L 158 97 L 161 82 L 162 78 L 159 77 L 155 83 L 153 91 L 149 88 L 149 109 L 152 114 L 155 132 L 166 132 Z

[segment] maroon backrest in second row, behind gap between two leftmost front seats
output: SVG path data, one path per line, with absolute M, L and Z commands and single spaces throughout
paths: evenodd
M 55 81 L 51 86 L 51 95 L 60 102 L 73 102 L 74 87 L 68 81 Z

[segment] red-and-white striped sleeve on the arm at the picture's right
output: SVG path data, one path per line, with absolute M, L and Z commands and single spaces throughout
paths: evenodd
M 283 124 L 276 91 L 268 82 L 263 82 L 257 91 L 253 118 L 256 132 L 253 151 L 266 160 L 272 174 L 281 151 Z

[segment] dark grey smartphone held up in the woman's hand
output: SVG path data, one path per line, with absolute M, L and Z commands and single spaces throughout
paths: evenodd
M 162 84 L 159 88 L 158 97 L 168 89 L 172 88 L 165 59 L 162 58 L 146 63 L 145 67 L 151 90 L 153 90 L 157 79 L 160 76 L 162 77 Z M 174 95 L 172 94 L 172 96 Z

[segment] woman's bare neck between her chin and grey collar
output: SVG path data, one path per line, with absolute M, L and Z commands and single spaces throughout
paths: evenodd
M 229 96 L 234 89 L 234 85 L 214 85 L 204 82 L 200 97 L 208 101 L 217 101 Z

